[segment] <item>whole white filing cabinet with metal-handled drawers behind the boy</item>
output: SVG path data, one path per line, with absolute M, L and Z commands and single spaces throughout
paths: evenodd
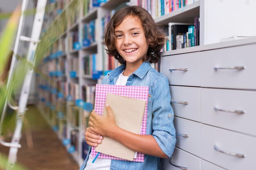
M 256 160 L 256 38 L 163 52 L 177 143 L 162 170 L 249 170 Z

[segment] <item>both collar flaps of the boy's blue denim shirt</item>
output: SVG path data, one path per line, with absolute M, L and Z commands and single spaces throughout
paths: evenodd
M 108 76 L 109 80 L 112 80 L 113 78 L 119 76 L 119 74 L 121 74 L 121 72 L 123 72 L 125 68 L 126 68 L 126 65 L 122 64 L 118 68 L 116 68 L 115 71 L 113 70 L 112 72 L 110 72 Z M 132 74 L 135 74 L 136 76 L 142 79 L 150 68 L 151 68 L 150 63 L 148 61 L 145 61 Z

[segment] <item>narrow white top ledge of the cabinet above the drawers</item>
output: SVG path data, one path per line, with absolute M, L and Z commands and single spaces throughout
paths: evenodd
M 243 45 L 248 45 L 248 44 L 256 44 L 256 37 L 250 37 L 250 38 L 245 38 L 245 39 L 235 39 L 235 40 L 224 41 L 224 42 L 219 42 L 219 43 L 214 43 L 214 44 L 207 44 L 207 45 L 182 48 L 182 49 L 171 50 L 171 51 L 164 51 L 164 52 L 161 52 L 161 56 L 164 57 L 164 56 L 175 55 L 175 54 L 214 50 L 214 49 L 218 49 L 218 48 L 243 46 Z

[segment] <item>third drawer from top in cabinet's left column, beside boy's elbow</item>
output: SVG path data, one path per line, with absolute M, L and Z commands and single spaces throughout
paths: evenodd
M 177 139 L 176 147 L 201 157 L 200 123 L 175 116 L 174 126 Z

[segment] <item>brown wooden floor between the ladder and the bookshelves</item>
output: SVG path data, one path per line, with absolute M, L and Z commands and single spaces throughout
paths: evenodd
M 67 152 L 36 107 L 29 106 L 28 108 L 20 140 L 22 148 L 18 149 L 16 164 L 21 165 L 25 170 L 78 170 L 79 165 Z M 31 127 L 32 148 L 29 148 L 31 144 L 27 142 L 27 137 L 30 135 L 25 133 L 29 129 L 28 125 Z M 0 160 L 7 157 L 8 153 L 9 148 L 0 145 Z M 1 164 L 2 161 L 0 170 L 3 169 Z

